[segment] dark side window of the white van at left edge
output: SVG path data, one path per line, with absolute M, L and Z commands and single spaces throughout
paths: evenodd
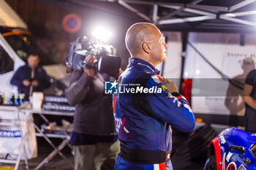
M 13 70 L 14 62 L 12 58 L 6 53 L 3 47 L 0 46 L 0 74 L 11 72 Z

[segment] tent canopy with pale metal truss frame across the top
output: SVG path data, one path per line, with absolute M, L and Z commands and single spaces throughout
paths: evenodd
M 166 31 L 256 31 L 256 0 L 37 0 L 155 23 Z M 83 8 L 83 9 L 82 9 Z

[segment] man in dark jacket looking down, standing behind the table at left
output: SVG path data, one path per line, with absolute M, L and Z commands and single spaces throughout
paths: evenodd
M 18 86 L 20 93 L 25 93 L 25 100 L 29 100 L 29 96 L 34 91 L 42 92 L 44 88 L 50 86 L 50 79 L 45 70 L 39 66 L 39 55 L 37 53 L 29 54 L 28 63 L 15 72 L 12 77 L 11 84 Z

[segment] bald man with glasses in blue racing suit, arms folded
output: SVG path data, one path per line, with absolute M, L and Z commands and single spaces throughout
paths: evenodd
M 172 130 L 193 131 L 195 117 L 174 82 L 155 68 L 166 59 L 165 37 L 151 23 L 127 31 L 131 58 L 118 79 L 113 111 L 121 151 L 116 170 L 172 170 Z

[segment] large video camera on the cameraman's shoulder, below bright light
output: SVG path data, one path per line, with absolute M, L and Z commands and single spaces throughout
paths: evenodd
M 85 58 L 90 54 L 97 59 L 94 67 L 85 61 Z M 72 70 L 87 68 L 116 77 L 121 65 L 121 58 L 116 56 L 116 49 L 112 45 L 104 45 L 83 36 L 70 43 L 65 63 L 67 73 L 71 73 Z

